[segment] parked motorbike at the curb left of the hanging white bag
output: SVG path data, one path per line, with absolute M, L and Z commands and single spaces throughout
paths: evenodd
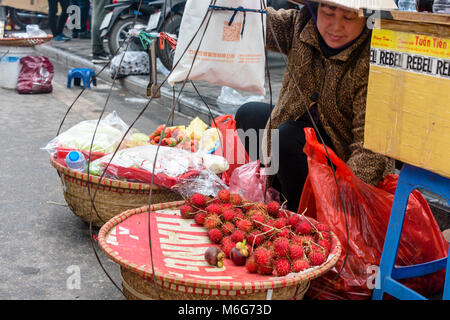
M 109 12 L 100 25 L 100 35 L 108 39 L 111 54 L 119 53 L 118 49 L 133 27 L 136 13 L 138 15 L 134 29 L 145 30 L 148 33 L 165 32 L 174 36 L 178 35 L 186 0 L 144 0 L 140 8 L 139 3 L 140 0 L 115 0 L 112 4 L 105 6 Z M 122 45 L 122 50 L 124 48 L 125 45 Z M 139 39 L 131 38 L 128 50 L 142 51 L 144 48 Z M 174 53 L 175 50 L 170 45 L 165 45 L 164 48 L 157 46 L 157 56 L 169 70 L 172 68 Z

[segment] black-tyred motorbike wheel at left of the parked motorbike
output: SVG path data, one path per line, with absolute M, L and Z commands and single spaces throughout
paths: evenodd
M 122 44 L 122 42 L 126 39 L 128 31 L 131 30 L 134 22 L 134 17 L 129 17 L 125 19 L 118 19 L 116 23 L 111 28 L 111 31 L 108 35 L 108 48 L 109 53 L 111 55 L 118 54 L 125 50 L 126 44 L 123 44 L 120 48 L 120 51 L 117 51 Z M 146 20 L 142 18 L 138 18 L 136 20 L 137 24 L 146 25 Z M 130 39 L 130 44 L 128 45 L 128 51 L 144 51 L 142 44 L 139 39 L 132 38 Z

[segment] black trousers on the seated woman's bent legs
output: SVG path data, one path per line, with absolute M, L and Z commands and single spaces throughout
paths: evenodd
M 236 126 L 243 131 L 249 129 L 265 129 L 270 116 L 270 105 L 261 102 L 250 102 L 242 105 L 235 115 Z M 311 127 L 305 117 L 297 121 L 287 121 L 278 128 L 279 133 L 279 154 L 272 154 L 272 157 L 279 156 L 279 169 L 275 175 L 273 187 L 281 193 L 287 200 L 287 207 L 290 211 L 297 212 L 303 186 L 308 176 L 308 163 L 303 147 L 306 143 L 304 128 Z M 332 148 L 330 137 L 327 135 L 321 124 L 318 124 L 319 132 L 325 144 Z M 261 148 L 260 136 L 258 136 L 258 158 Z M 242 143 L 247 152 L 250 150 L 249 141 L 241 137 Z M 251 159 L 252 161 L 259 159 Z

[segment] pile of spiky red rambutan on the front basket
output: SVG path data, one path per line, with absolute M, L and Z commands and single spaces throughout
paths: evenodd
M 301 272 L 325 263 L 331 250 L 328 225 L 290 212 L 276 201 L 250 202 L 222 189 L 216 197 L 193 194 L 180 213 L 206 228 L 227 258 L 235 259 L 233 248 L 238 247 L 246 256 L 235 263 L 242 265 L 245 259 L 250 273 L 281 277 Z

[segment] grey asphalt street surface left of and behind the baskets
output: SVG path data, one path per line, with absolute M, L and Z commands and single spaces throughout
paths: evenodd
M 0 300 L 123 300 L 95 258 L 89 224 L 67 207 L 57 172 L 48 153 L 40 149 L 55 137 L 68 106 L 80 92 L 76 87 L 66 88 L 67 66 L 53 64 L 50 94 L 20 95 L 0 89 Z M 63 130 L 98 119 L 109 90 L 110 84 L 101 79 L 97 87 L 86 90 L 68 114 Z M 146 101 L 144 96 L 116 87 L 106 112 L 115 110 L 131 124 Z M 135 128 L 150 133 L 168 116 L 166 105 L 152 102 Z M 174 124 L 190 120 L 176 113 Z M 94 235 L 97 232 L 94 228 Z M 95 248 L 120 286 L 118 265 Z

